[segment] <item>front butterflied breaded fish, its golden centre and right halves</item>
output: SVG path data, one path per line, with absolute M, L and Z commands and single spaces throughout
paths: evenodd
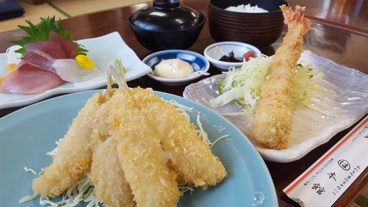
M 137 206 L 175 206 L 178 176 L 204 189 L 226 176 L 194 126 L 151 90 L 115 90 L 111 99 L 110 127 Z

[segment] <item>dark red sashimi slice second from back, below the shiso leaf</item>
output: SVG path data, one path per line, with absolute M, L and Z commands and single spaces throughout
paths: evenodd
M 57 42 L 51 41 L 41 41 L 41 42 L 30 42 L 23 45 L 27 53 L 31 50 L 42 50 L 43 52 L 49 54 L 55 59 L 66 59 L 67 56 L 64 53 L 63 48 Z

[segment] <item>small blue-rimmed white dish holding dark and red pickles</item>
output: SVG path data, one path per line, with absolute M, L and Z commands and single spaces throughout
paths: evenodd
M 220 57 L 215 58 L 215 57 L 213 57 L 212 54 L 210 54 L 211 51 L 216 50 L 217 48 L 221 48 L 221 46 L 225 46 L 225 45 L 244 48 L 243 49 L 243 54 L 241 56 L 235 54 L 235 56 L 237 55 L 238 57 L 242 57 L 244 55 L 244 53 L 246 53 L 248 51 L 253 51 L 255 53 L 256 57 L 258 57 L 262 54 L 261 51 L 258 48 L 256 48 L 253 45 L 244 43 L 244 42 L 225 41 L 225 42 L 213 43 L 212 45 L 209 45 L 209 46 L 206 47 L 206 49 L 204 50 L 204 56 L 209 60 L 209 62 L 214 64 L 220 70 L 226 70 L 227 71 L 227 70 L 229 70 L 229 67 L 241 67 L 243 65 L 243 62 L 232 63 L 232 62 L 220 61 L 220 60 L 218 60 L 218 59 L 220 59 Z M 227 55 L 230 52 L 231 52 L 231 50 L 229 50 L 229 51 L 221 50 L 222 55 Z M 236 52 L 234 52 L 234 53 L 236 53 Z

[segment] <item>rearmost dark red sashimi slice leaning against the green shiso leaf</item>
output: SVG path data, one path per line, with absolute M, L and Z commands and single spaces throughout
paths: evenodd
M 75 42 L 64 38 L 54 31 L 50 31 L 49 41 L 59 43 L 61 45 L 61 48 L 64 50 L 67 59 L 74 59 L 74 57 L 77 56 L 78 46 Z

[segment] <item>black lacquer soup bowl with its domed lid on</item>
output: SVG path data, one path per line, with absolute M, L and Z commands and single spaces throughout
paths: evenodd
M 178 0 L 154 0 L 128 17 L 138 42 L 152 52 L 187 49 L 197 41 L 206 21 L 205 15 Z

